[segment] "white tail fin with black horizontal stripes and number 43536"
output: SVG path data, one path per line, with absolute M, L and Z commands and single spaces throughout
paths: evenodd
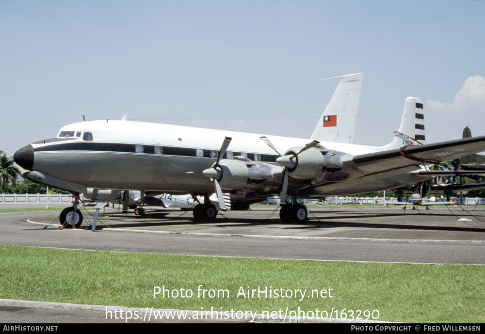
M 423 103 L 416 96 L 406 98 L 404 101 L 403 117 L 399 130 L 391 143 L 384 146 L 386 149 L 399 148 L 404 145 L 416 146 L 426 142 L 424 135 Z

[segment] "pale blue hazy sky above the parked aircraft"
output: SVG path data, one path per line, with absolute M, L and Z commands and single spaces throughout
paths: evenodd
M 308 138 L 363 72 L 354 143 L 404 99 L 427 142 L 485 135 L 485 1 L 0 1 L 0 150 L 121 119 Z

